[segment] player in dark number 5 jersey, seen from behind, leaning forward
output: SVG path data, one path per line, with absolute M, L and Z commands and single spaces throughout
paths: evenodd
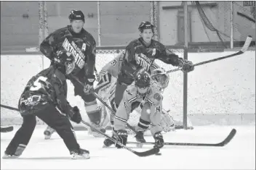
M 50 66 L 28 81 L 18 103 L 23 124 L 7 146 L 3 158 L 18 158 L 22 155 L 36 127 L 36 116 L 63 138 L 72 158 L 89 158 L 89 151 L 81 149 L 77 143 L 68 119 L 69 116 L 73 122 L 81 122 L 79 109 L 76 106 L 72 108 L 66 99 L 65 75 L 71 74 L 75 69 L 75 59 L 66 55 L 58 59 L 63 63 L 62 66 Z

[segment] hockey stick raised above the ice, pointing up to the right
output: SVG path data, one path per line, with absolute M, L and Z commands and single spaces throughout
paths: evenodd
M 203 64 L 207 64 L 207 63 L 210 63 L 210 62 L 213 62 L 213 61 L 219 61 L 221 59 L 227 59 L 227 58 L 230 58 L 232 56 L 239 56 L 240 54 L 244 54 L 245 51 L 247 51 L 247 49 L 249 48 L 249 44 L 251 43 L 252 41 L 252 36 L 248 36 L 247 37 L 247 40 L 244 42 L 244 46 L 241 48 L 240 51 L 238 51 L 237 53 L 235 54 L 231 54 L 231 55 L 228 55 L 228 56 L 222 56 L 222 57 L 219 57 L 217 59 L 210 59 L 208 61 L 202 61 L 202 62 L 199 62 L 197 64 L 193 64 L 193 67 L 195 66 L 200 66 L 200 65 L 203 65 Z M 171 72 L 177 72 L 179 70 L 181 70 L 182 68 L 177 68 L 177 69 L 171 69 L 171 70 L 168 70 L 166 73 L 169 74 Z

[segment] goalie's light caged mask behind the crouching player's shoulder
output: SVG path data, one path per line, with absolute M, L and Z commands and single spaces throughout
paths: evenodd
M 151 75 L 152 80 L 156 80 L 159 85 L 159 90 L 164 90 L 169 84 L 169 75 L 166 74 L 163 68 L 154 69 Z

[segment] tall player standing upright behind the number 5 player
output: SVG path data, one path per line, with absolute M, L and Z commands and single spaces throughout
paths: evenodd
M 73 56 L 76 59 L 75 68 L 71 74 L 84 83 L 84 89 L 76 81 L 71 80 L 74 86 L 75 95 L 81 96 L 84 100 L 85 110 L 92 124 L 99 127 L 101 111 L 97 106 L 94 95 L 89 93 L 93 88 L 95 75 L 95 54 L 96 42 L 86 30 L 84 30 L 84 14 L 79 10 L 72 10 L 69 14 L 71 25 L 60 28 L 41 43 L 40 51 L 52 61 L 52 64 L 60 62 L 58 56 Z M 45 135 L 51 135 L 48 127 Z

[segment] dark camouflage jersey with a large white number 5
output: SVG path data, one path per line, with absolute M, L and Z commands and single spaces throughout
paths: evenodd
M 71 106 L 67 101 L 65 75 L 54 66 L 44 69 L 28 81 L 18 107 L 22 115 L 44 109 L 48 104 L 57 106 L 60 111 L 69 114 Z

